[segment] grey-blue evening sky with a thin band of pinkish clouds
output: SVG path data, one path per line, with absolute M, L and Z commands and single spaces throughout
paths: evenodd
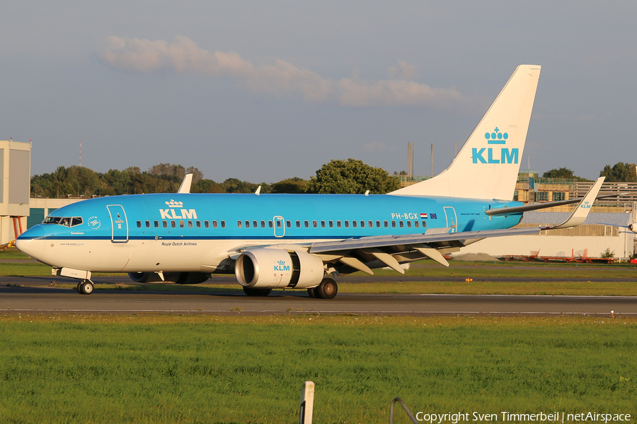
M 4 1 L 0 139 L 31 174 L 159 163 L 208 179 L 451 163 L 542 66 L 522 169 L 635 163 L 635 1 Z

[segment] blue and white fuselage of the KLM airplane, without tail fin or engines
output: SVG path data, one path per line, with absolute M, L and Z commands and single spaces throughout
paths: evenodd
M 20 248 L 56 268 L 231 273 L 229 255 L 246 247 L 495 230 L 519 223 L 520 214 L 486 216 L 492 207 L 503 203 L 362 194 L 110 196 L 59 208 L 50 216 L 69 218 L 68 223 L 35 225 L 20 237 Z

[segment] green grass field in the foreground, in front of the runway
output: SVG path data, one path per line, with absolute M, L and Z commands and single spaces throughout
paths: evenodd
M 637 321 L 0 317 L 2 423 L 316 423 L 414 413 L 637 413 Z M 406 417 L 397 414 L 396 423 Z

